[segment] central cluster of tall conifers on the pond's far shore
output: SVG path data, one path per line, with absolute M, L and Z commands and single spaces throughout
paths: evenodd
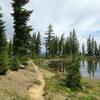
M 50 24 L 45 35 L 46 57 L 67 57 L 79 53 L 79 42 L 74 29 L 66 38 L 64 34 L 57 37 Z

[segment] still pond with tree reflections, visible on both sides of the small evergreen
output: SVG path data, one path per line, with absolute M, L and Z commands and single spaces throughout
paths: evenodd
M 51 61 L 49 67 L 54 71 L 65 72 L 70 62 Z M 82 60 L 80 64 L 80 72 L 83 77 L 100 79 L 100 61 L 98 60 Z

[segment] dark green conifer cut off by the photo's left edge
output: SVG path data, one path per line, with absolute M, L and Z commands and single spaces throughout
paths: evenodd
M 2 14 L 0 14 L 0 74 L 6 74 L 8 69 L 8 47 L 4 28 Z

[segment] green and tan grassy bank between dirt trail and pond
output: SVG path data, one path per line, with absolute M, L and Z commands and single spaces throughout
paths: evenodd
M 41 68 L 48 70 L 55 75 L 46 77 L 46 87 L 44 96 L 46 100 L 100 100 L 100 80 L 82 78 L 82 90 L 71 91 L 66 87 L 63 80 L 63 74 L 53 72 L 47 64 L 50 60 L 35 59 L 35 63 Z

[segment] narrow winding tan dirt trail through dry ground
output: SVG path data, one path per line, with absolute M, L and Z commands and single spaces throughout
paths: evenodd
M 36 72 L 37 81 L 39 81 L 40 84 L 39 85 L 35 84 L 33 87 L 29 89 L 28 94 L 29 94 L 30 100 L 44 100 L 43 93 L 44 93 L 44 87 L 45 87 L 45 80 L 43 78 L 43 74 L 39 70 L 38 66 L 36 66 L 34 63 L 32 63 L 32 65 Z

